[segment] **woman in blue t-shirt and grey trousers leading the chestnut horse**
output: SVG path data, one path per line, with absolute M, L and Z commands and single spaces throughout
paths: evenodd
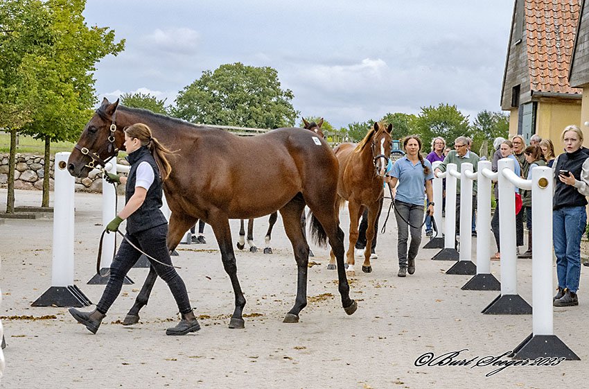
M 403 140 L 405 157 L 395 162 L 389 184 L 396 188 L 395 217 L 398 230 L 398 277 L 415 273 L 415 257 L 421 244 L 423 205 L 428 197 L 428 214 L 434 214 L 432 191 L 432 164 L 421 155 L 421 139 L 410 135 Z M 408 230 L 411 227 L 411 243 L 407 251 Z

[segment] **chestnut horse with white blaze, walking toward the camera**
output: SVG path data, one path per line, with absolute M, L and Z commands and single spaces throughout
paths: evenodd
M 393 126 L 385 127 L 374 123 L 360 144 L 343 143 L 333 149 L 340 161 L 340 173 L 337 178 L 337 195 L 340 205 L 348 200 L 350 214 L 350 246 L 346 253 L 348 273 L 354 274 L 354 249 L 358 241 L 358 221 L 368 208 L 368 227 L 366 230 L 366 247 L 370 248 L 374 237 L 374 223 L 380 211 L 380 200 L 384 196 L 384 177 L 391 155 Z M 362 271 L 370 273 L 371 250 L 364 251 Z M 339 268 L 339 266 L 338 266 Z M 331 252 L 328 269 L 335 269 L 335 256 Z

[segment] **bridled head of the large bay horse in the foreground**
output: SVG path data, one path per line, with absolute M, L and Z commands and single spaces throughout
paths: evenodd
M 74 177 L 87 177 L 93 168 L 104 166 L 123 148 L 123 129 L 116 128 L 118 99 L 110 103 L 106 98 L 78 139 L 67 161 L 67 171 Z

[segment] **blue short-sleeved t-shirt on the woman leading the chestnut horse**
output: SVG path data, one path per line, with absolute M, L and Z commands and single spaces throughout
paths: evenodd
M 430 173 L 423 173 L 421 162 L 413 164 L 407 157 L 397 159 L 393 165 L 391 177 L 398 180 L 395 200 L 400 200 L 414 205 L 423 205 L 425 200 L 425 180 L 433 180 L 434 172 L 428 159 L 423 159 L 423 164 L 430 169 Z

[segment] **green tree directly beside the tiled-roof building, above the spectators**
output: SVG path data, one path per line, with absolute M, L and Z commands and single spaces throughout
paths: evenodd
M 496 137 L 507 139 L 509 136 L 509 114 L 481 111 L 477 114 L 473 129 L 473 150 L 489 158 L 494 151 L 493 140 Z

